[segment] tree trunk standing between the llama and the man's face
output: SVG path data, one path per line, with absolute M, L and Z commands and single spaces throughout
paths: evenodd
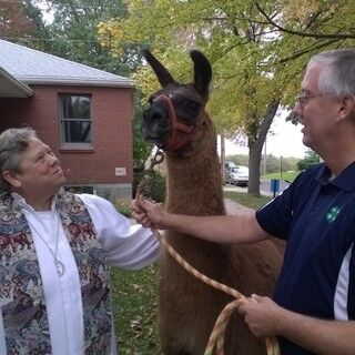
M 280 101 L 272 101 L 266 110 L 264 119 L 260 123 L 258 132 L 255 135 L 247 136 L 248 144 L 248 187 L 247 193 L 260 196 L 260 164 L 262 161 L 263 145 L 270 130 L 270 126 L 277 112 Z

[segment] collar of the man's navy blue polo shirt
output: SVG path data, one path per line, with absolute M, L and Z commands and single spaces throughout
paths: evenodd
M 322 185 L 334 185 L 341 190 L 352 191 L 355 190 L 355 162 L 347 165 L 335 179 L 329 181 L 332 172 L 328 166 L 323 164 L 318 174 L 316 175 L 316 181 Z

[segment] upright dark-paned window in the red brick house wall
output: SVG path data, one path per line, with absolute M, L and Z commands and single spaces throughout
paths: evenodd
M 91 143 L 91 97 L 62 94 L 60 95 L 60 110 L 62 144 Z

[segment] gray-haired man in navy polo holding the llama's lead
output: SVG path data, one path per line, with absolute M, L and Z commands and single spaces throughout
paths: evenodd
M 256 336 L 277 335 L 283 355 L 355 354 L 355 50 L 312 58 L 295 113 L 324 164 L 256 213 L 182 216 L 138 199 L 134 216 L 220 243 L 286 240 L 274 301 L 252 295 L 239 312 Z

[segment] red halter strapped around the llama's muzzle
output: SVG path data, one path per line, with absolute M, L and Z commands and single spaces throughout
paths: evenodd
M 163 101 L 165 101 L 169 109 L 171 134 L 166 140 L 165 150 L 173 151 L 179 148 L 182 148 L 183 145 L 185 145 L 192 140 L 195 128 L 193 125 L 187 125 L 187 124 L 178 122 L 175 109 L 170 97 L 159 95 L 156 99 L 162 99 Z M 178 131 L 182 132 L 182 135 L 181 134 L 179 135 L 180 136 L 179 140 L 178 140 Z

